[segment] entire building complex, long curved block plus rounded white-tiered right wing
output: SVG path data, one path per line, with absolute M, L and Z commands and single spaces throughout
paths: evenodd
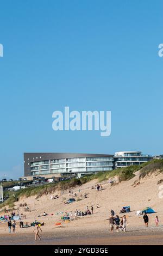
M 24 176 L 86 174 L 141 164 L 153 157 L 140 151 L 116 152 L 115 155 L 73 153 L 24 153 Z

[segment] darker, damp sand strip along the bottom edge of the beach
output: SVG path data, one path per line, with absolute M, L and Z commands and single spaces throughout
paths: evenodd
M 1 245 L 163 245 L 162 231 L 128 231 L 126 233 L 73 233 L 59 231 L 40 233 L 41 241 L 34 241 L 34 233 L 0 235 Z

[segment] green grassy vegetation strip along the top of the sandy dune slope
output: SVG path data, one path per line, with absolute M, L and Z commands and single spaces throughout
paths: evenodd
M 5 194 L 9 194 L 9 199 L 4 203 L 0 204 L 0 209 L 4 208 L 5 206 L 9 206 L 10 208 L 14 207 L 14 202 L 20 199 L 20 197 L 30 197 L 30 196 L 37 196 L 37 198 L 41 197 L 43 194 L 53 193 L 57 190 L 64 191 L 69 188 L 80 186 L 89 182 L 94 179 L 98 179 L 98 182 L 102 182 L 114 176 L 118 176 L 118 179 L 121 181 L 130 180 L 135 176 L 135 172 L 140 170 L 140 178 L 143 178 L 149 173 L 155 172 L 159 170 L 160 172 L 163 171 L 163 160 L 153 160 L 151 162 L 146 162 L 141 164 L 140 166 L 129 166 L 118 168 L 108 172 L 99 172 L 97 174 L 87 174 L 80 179 L 74 178 L 71 180 L 60 181 L 59 183 L 52 183 L 46 184 L 36 187 L 27 187 L 22 190 L 16 192 L 9 192 L 5 191 Z

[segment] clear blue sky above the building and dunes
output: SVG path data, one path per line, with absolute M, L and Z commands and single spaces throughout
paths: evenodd
M 0 0 L 0 178 L 24 152 L 163 153 L 163 2 Z M 111 135 L 53 131 L 52 113 L 111 111 Z

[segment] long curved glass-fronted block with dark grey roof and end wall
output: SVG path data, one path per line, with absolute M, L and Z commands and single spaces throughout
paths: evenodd
M 113 157 L 102 154 L 24 153 L 24 176 L 113 170 Z

